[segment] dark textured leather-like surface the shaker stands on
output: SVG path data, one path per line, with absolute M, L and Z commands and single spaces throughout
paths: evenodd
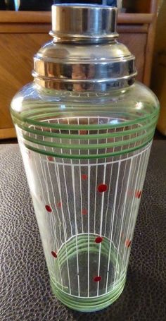
M 98 313 L 76 313 L 51 294 L 18 145 L 0 145 L 1 321 L 166 320 L 166 142 L 155 141 L 136 223 L 127 284 Z

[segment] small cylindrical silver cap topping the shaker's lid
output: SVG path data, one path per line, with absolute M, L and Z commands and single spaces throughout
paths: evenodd
M 60 4 L 52 6 L 50 34 L 70 42 L 103 42 L 118 37 L 117 8 L 90 4 Z

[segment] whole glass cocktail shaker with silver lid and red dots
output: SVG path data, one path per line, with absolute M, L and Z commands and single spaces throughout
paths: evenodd
M 51 287 L 80 311 L 124 289 L 158 120 L 116 22 L 117 8 L 53 5 L 53 40 L 11 102 Z

